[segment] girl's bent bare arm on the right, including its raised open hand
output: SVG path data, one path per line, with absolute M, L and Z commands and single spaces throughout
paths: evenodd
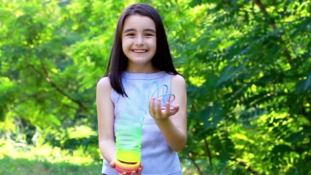
M 175 75 L 172 76 L 171 83 L 171 91 L 175 95 L 175 100 L 170 105 L 176 106 L 176 110 L 169 112 L 169 104 L 167 104 L 165 111 L 161 111 L 160 107 L 150 111 L 168 145 L 175 151 L 180 151 L 187 141 L 186 82 L 182 76 Z M 150 104 L 153 104 L 153 100 Z M 159 114 L 162 116 L 159 117 Z

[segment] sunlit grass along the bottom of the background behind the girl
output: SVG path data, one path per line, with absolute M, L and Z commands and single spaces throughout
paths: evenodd
M 198 174 L 189 161 L 182 164 L 183 174 Z M 0 174 L 101 174 L 101 167 L 100 157 L 95 161 L 83 147 L 69 151 L 0 139 Z

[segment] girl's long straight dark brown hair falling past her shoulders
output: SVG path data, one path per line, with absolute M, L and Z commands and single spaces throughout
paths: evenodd
M 122 50 L 122 31 L 124 20 L 130 15 L 150 17 L 156 25 L 157 49 L 156 54 L 151 59 L 152 65 L 168 74 L 179 74 L 174 68 L 164 25 L 158 11 L 147 4 L 130 5 L 122 12 L 119 18 L 113 48 L 110 52 L 109 62 L 104 75 L 104 77 L 109 76 L 112 88 L 122 96 L 127 96 L 123 89 L 121 75 L 126 70 L 128 63 L 127 57 Z

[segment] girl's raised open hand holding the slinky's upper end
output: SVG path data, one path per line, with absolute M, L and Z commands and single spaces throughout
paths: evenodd
M 155 101 L 154 97 L 152 97 L 151 100 L 149 101 L 149 114 L 154 119 L 158 119 L 158 120 L 167 119 L 179 111 L 179 104 L 177 104 L 173 110 L 170 110 L 170 103 L 166 102 L 165 110 L 164 109 L 162 110 L 161 99 L 157 99 L 156 106 L 154 106 L 154 101 Z

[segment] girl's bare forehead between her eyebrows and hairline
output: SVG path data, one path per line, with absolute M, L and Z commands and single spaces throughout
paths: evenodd
M 123 32 L 126 29 L 136 29 L 137 31 L 143 31 L 144 29 L 156 30 L 156 24 L 148 16 L 130 15 L 124 20 Z

